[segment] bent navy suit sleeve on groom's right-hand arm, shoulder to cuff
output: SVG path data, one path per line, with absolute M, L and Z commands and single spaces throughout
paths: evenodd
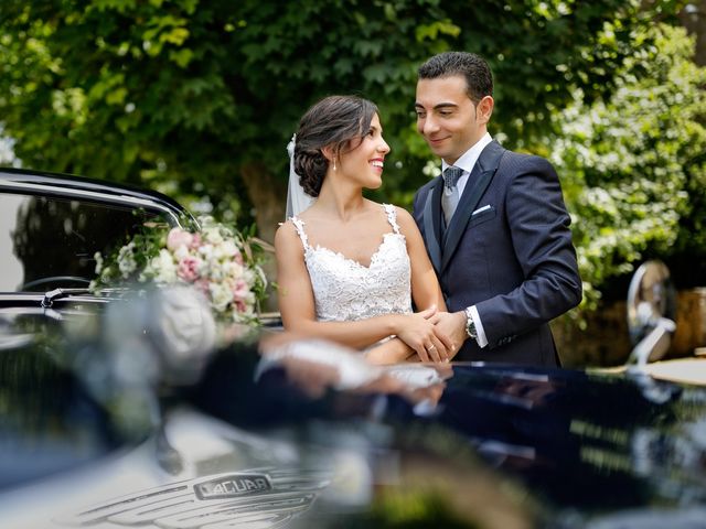
M 524 280 L 475 305 L 491 347 L 569 311 L 582 295 L 556 171 L 538 156 L 512 156 L 507 163 L 504 170 L 514 176 L 505 194 L 506 222 Z

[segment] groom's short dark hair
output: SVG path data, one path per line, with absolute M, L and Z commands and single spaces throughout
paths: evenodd
M 432 56 L 417 71 L 420 79 L 461 75 L 468 96 L 475 102 L 493 95 L 493 74 L 483 57 L 469 52 L 443 52 Z

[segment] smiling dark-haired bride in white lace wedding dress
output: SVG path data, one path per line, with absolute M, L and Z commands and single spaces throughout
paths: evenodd
M 414 219 L 363 197 L 388 152 L 366 99 L 327 97 L 301 118 L 292 165 L 311 205 L 275 236 L 282 323 L 375 364 L 448 361 L 454 347 L 435 326 L 446 305 Z

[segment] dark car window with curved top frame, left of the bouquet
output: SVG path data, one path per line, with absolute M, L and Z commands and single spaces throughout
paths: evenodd
M 106 255 L 146 223 L 180 225 L 174 212 L 139 197 L 13 187 L 0 192 L 0 292 L 87 288 L 95 278 L 96 251 Z

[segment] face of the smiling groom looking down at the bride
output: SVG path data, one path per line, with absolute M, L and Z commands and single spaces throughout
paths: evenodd
M 419 79 L 415 109 L 417 130 L 431 151 L 449 164 L 485 133 L 488 120 L 479 119 L 477 105 L 460 75 Z

